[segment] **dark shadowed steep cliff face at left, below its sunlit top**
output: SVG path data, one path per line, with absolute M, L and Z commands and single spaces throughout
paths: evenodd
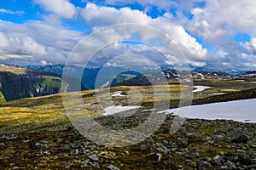
M 11 72 L 0 72 L 0 82 L 2 98 L 6 101 L 61 92 L 60 77 L 25 77 Z

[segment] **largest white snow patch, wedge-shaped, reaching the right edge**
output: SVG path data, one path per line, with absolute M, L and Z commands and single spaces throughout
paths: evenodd
M 171 109 L 166 114 L 175 114 L 187 118 L 208 120 L 226 119 L 237 122 L 256 123 L 256 99 L 244 99 L 229 102 L 220 102 L 206 105 L 192 105 Z M 159 113 L 160 113 L 159 112 Z

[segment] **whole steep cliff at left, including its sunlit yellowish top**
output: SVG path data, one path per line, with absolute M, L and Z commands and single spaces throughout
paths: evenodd
M 70 78 L 72 88 L 75 78 Z M 67 82 L 68 84 L 68 82 Z M 86 89 L 81 85 L 81 90 Z M 0 65 L 0 102 L 61 92 L 61 76 L 13 65 Z

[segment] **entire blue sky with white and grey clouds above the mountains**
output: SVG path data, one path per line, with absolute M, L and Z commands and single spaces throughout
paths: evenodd
M 252 0 L 1 1 L 0 63 L 147 63 L 106 61 L 123 53 L 166 65 L 256 70 L 255 8 Z

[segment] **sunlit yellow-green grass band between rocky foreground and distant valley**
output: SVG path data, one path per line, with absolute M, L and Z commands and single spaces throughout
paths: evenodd
M 128 94 L 129 105 L 151 106 L 154 103 L 171 105 L 177 107 L 180 92 L 184 89 L 189 92 L 191 88 L 179 85 L 159 85 L 147 87 L 113 87 L 82 92 L 71 92 L 67 94 L 52 94 L 43 97 L 18 99 L 0 104 L 0 128 L 11 129 L 12 127 L 29 126 L 42 127 L 52 126 L 50 124 L 67 123 L 68 117 L 65 109 L 71 109 L 77 114 L 76 119 L 86 116 L 100 116 L 103 109 L 123 98 L 111 98 L 113 92 L 123 90 Z M 226 93 L 211 96 L 213 93 Z M 200 93 L 194 93 L 194 105 L 212 103 L 230 99 L 246 99 L 252 92 L 250 90 L 238 90 L 234 88 L 207 89 Z M 247 95 L 244 96 L 243 95 Z M 64 104 L 63 105 L 63 97 Z M 130 96 L 130 97 L 129 97 Z

